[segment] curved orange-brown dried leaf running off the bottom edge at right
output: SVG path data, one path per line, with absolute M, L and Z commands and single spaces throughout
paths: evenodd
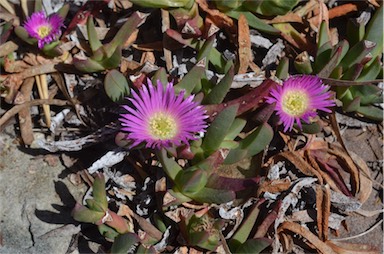
M 280 233 L 284 230 L 289 230 L 293 233 L 301 235 L 302 237 L 307 239 L 309 241 L 309 243 L 312 244 L 320 253 L 336 254 L 336 252 L 330 246 L 328 246 L 326 243 L 321 241 L 311 231 L 309 231 L 308 229 L 302 227 L 301 225 L 299 225 L 297 223 L 289 222 L 289 221 L 283 222 L 280 225 L 280 227 L 278 228 L 278 233 Z

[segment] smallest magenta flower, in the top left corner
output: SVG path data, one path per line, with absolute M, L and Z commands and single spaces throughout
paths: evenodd
M 46 17 L 43 11 L 33 13 L 24 24 L 29 36 L 37 39 L 40 49 L 59 38 L 62 26 L 63 19 L 58 14 Z

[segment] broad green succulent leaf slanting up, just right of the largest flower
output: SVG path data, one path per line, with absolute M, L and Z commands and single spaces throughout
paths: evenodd
M 221 142 L 223 142 L 229 128 L 235 120 L 237 110 L 238 105 L 233 105 L 224 109 L 216 116 L 215 120 L 209 126 L 201 145 L 206 156 L 209 156 L 219 149 Z

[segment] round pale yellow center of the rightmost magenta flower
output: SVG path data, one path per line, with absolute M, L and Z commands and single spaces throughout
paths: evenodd
M 301 116 L 308 109 L 309 98 L 302 91 L 287 91 L 282 97 L 282 109 L 291 116 Z

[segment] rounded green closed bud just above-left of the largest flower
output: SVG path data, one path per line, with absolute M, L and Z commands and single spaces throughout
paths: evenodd
M 111 70 L 104 79 L 104 89 L 108 97 L 114 101 L 121 101 L 129 95 L 129 85 L 127 79 L 118 70 Z

